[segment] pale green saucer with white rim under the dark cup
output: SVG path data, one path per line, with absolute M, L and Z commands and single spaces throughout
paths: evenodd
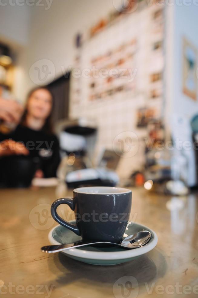
M 146 226 L 137 223 L 129 223 L 125 231 L 124 236 L 137 233 L 142 230 L 147 230 L 151 232 L 150 241 L 140 247 L 135 249 L 124 249 L 119 246 L 112 247 L 95 247 L 95 246 L 85 246 L 82 248 L 71 248 L 65 250 L 62 253 L 68 257 L 92 264 L 92 265 L 116 265 L 120 263 L 125 263 L 139 257 L 140 255 L 146 254 L 151 251 L 157 245 L 157 235 L 156 233 Z M 51 244 L 64 244 L 64 243 L 74 243 L 81 241 L 82 238 L 71 230 L 62 227 L 60 225 L 54 227 L 48 235 L 48 239 Z

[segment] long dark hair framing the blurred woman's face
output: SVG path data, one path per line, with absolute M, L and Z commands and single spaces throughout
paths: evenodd
M 32 96 L 32 94 L 35 91 L 40 90 L 40 89 L 47 90 L 50 93 L 51 98 L 52 98 L 51 112 L 50 112 L 48 118 L 45 120 L 44 126 L 42 127 L 42 131 L 43 132 L 45 132 L 47 134 L 52 134 L 53 133 L 52 111 L 53 111 L 53 105 L 54 105 L 54 95 L 51 93 L 51 91 L 47 87 L 36 87 L 36 88 L 33 88 L 33 89 L 30 90 L 30 92 L 27 95 L 25 111 L 24 111 L 24 113 L 23 113 L 23 115 L 21 117 L 20 124 L 23 125 L 23 126 L 27 126 L 26 118 L 27 118 L 27 114 L 28 114 L 28 108 L 27 108 L 28 101 L 29 101 L 30 97 Z

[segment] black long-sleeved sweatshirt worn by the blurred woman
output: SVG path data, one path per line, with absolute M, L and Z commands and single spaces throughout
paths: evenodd
M 45 178 L 56 176 L 60 154 L 58 139 L 54 134 L 18 125 L 16 130 L 10 134 L 0 133 L 0 141 L 7 139 L 22 142 L 32 158 L 39 158 L 38 168 L 43 171 Z

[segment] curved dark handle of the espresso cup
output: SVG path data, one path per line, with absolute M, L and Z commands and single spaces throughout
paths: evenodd
M 80 231 L 76 224 L 70 224 L 67 221 L 63 220 L 57 213 L 57 207 L 61 204 L 67 204 L 71 210 L 74 211 L 75 209 L 75 201 L 74 199 L 58 199 L 51 205 L 51 215 L 54 218 L 55 221 L 57 221 L 61 226 L 68 228 L 72 232 L 74 232 L 77 235 L 81 235 Z

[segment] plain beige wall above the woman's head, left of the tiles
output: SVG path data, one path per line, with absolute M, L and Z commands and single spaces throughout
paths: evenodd
M 24 99 L 38 81 L 37 72 L 29 76 L 31 65 L 38 60 L 47 59 L 54 64 L 55 71 L 48 75 L 46 82 L 63 75 L 62 69 L 67 70 L 73 64 L 75 34 L 86 32 L 114 9 L 112 0 L 58 0 L 48 10 L 33 6 L 28 50 L 18 58 L 23 75 L 15 89 L 17 96 Z

